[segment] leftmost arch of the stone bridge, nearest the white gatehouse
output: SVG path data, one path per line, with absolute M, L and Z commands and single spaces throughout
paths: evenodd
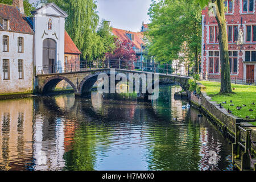
M 60 81 L 65 80 L 69 83 L 69 85 L 72 86 L 73 90 L 75 93 L 77 93 L 77 88 L 76 86 L 73 84 L 72 81 L 70 81 L 67 77 L 63 77 L 63 76 L 53 76 L 48 78 L 42 88 L 41 88 L 41 93 L 47 93 L 47 92 L 52 92 L 53 89 L 55 89 L 56 85 L 59 84 Z

